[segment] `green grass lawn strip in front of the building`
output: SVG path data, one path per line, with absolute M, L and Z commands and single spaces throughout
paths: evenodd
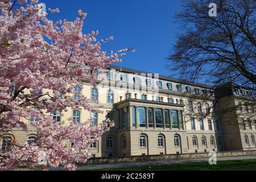
M 90 171 L 221 171 L 244 170 L 256 171 L 256 159 L 217 161 L 217 165 L 209 165 L 208 162 L 165 164 L 158 166 L 137 166 L 123 168 L 90 169 Z

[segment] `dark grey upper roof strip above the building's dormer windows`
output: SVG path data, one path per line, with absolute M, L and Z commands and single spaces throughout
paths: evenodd
M 109 69 L 116 69 L 116 70 L 122 69 L 122 72 L 125 72 L 125 73 L 138 73 L 138 74 L 146 73 L 146 74 L 152 74 L 152 76 L 154 76 L 154 73 L 143 72 L 143 71 L 139 71 L 139 70 L 137 70 L 137 69 L 131 69 L 131 68 L 125 68 L 125 67 L 118 67 L 118 66 L 112 65 L 112 64 L 110 64 L 110 65 L 108 66 L 108 68 L 109 68 Z M 180 79 L 180 78 L 174 78 L 174 77 L 159 75 L 159 79 L 160 79 L 160 80 L 166 80 L 166 81 L 177 82 L 177 83 L 185 84 L 185 85 L 193 85 L 193 86 L 199 86 L 199 87 L 203 87 L 203 88 L 207 88 L 207 89 L 212 89 L 212 86 L 210 86 L 210 85 L 207 85 L 207 84 L 200 84 L 200 83 L 195 83 L 195 82 L 188 82 L 188 81 L 182 80 L 182 79 Z

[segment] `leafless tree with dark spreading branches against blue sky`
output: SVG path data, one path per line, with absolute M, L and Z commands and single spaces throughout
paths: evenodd
M 210 16 L 210 3 L 217 5 L 217 16 Z M 174 75 L 180 75 L 188 83 L 204 82 L 212 90 L 218 90 L 213 104 L 220 97 L 234 97 L 228 94 L 239 92 L 241 102 L 232 107 L 222 107 L 222 114 L 240 107 L 250 117 L 255 117 L 256 84 L 256 4 L 253 0 L 188 0 L 182 3 L 183 10 L 175 15 L 182 33 L 170 52 L 167 68 Z M 245 94 L 240 93 L 244 89 Z M 209 94 L 195 100 L 209 100 Z M 211 97 L 212 98 L 212 97 Z M 226 102 L 228 103 L 228 102 Z M 216 111 L 216 109 L 214 110 Z M 200 117 L 206 116 L 209 112 Z

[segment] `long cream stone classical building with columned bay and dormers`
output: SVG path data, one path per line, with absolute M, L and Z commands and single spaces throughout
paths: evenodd
M 237 94 L 246 96 L 245 90 L 236 93 L 230 85 L 211 90 L 204 84 L 188 84 L 177 78 L 113 65 L 98 71 L 98 77 L 104 79 L 97 82 L 96 88 L 82 82 L 82 88 L 77 86 L 75 91 L 97 100 L 100 104 L 92 105 L 101 107 L 102 114 L 75 108 L 68 108 L 61 116 L 52 114 L 56 122 L 70 117 L 73 122 L 92 118 L 92 125 L 106 118 L 113 120 L 115 126 L 90 146 L 95 157 L 256 150 L 256 125 L 245 125 L 247 116 L 239 116 L 242 108 L 217 114 L 226 103 L 228 107 L 237 105 Z M 223 89 L 229 90 L 225 96 L 220 94 Z M 250 102 L 249 97 L 245 100 Z M 248 112 L 254 113 L 254 107 Z M 18 142 L 34 139 L 36 131 L 30 123 L 28 127 L 28 134 L 16 130 L 13 137 Z M 71 142 L 67 143 L 72 147 Z

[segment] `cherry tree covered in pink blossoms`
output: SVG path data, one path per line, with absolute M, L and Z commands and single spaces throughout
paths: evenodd
M 0 140 L 8 146 L 0 150 L 0 169 L 20 164 L 35 169 L 43 154 L 47 163 L 40 169 L 64 166 L 74 170 L 77 163 L 90 158 L 90 144 L 114 124 L 109 119 L 98 126 L 90 126 L 90 120 L 53 122 L 51 113 L 63 114 L 68 107 L 100 113 L 81 93 L 76 93 L 79 100 L 75 100 L 74 87 L 82 86 L 81 80 L 95 85 L 96 71 L 121 61 L 127 49 L 101 51 L 97 31 L 82 33 L 83 11 L 79 10 L 74 22 L 53 23 L 39 14 L 36 3 L 0 0 Z M 26 133 L 31 115 L 36 118 L 31 123 L 37 131 L 35 140 L 6 139 L 14 130 Z M 72 148 L 67 141 L 74 143 Z

